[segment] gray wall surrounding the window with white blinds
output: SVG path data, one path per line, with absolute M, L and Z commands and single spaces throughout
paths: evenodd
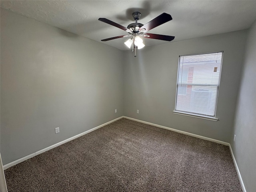
M 126 52 L 124 116 L 230 142 L 246 34 L 242 30 L 145 47 L 136 58 Z M 216 111 L 219 121 L 173 114 L 179 55 L 216 51 L 224 51 Z

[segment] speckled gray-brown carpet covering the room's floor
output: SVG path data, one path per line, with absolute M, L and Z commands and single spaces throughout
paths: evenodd
M 228 146 L 124 118 L 5 176 L 9 192 L 242 192 Z

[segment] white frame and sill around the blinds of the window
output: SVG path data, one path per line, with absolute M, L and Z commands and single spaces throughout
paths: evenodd
M 207 116 L 207 115 L 201 115 L 201 114 L 196 114 L 196 113 L 191 113 L 191 112 L 184 112 L 184 111 L 177 111 L 176 110 L 176 105 L 177 105 L 177 94 L 178 94 L 178 78 L 179 78 L 179 70 L 180 70 L 180 58 L 182 56 L 193 56 L 193 55 L 204 55 L 204 54 L 214 54 L 214 53 L 222 53 L 222 58 L 221 58 L 221 65 L 220 65 L 220 78 L 218 82 L 218 93 L 217 93 L 217 98 L 216 98 L 216 106 L 215 106 L 215 112 L 214 116 Z M 186 55 L 180 55 L 178 59 L 178 70 L 177 70 L 177 82 L 176 82 L 176 95 L 175 95 L 175 109 L 173 111 L 174 114 L 179 114 L 179 115 L 184 115 L 184 116 L 190 116 L 190 117 L 195 117 L 195 118 L 201 118 L 201 119 L 206 119 L 206 120 L 212 120 L 212 121 L 218 121 L 218 118 L 216 118 L 216 111 L 217 111 L 217 105 L 218 105 L 218 98 L 219 98 L 219 90 L 220 90 L 220 79 L 221 79 L 221 72 L 222 72 L 222 63 L 223 63 L 223 54 L 224 51 L 216 51 L 216 52 L 207 52 L 207 53 L 199 53 L 199 54 L 186 54 Z

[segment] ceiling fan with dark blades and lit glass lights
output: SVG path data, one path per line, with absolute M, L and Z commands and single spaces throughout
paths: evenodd
M 162 13 L 144 25 L 141 23 L 138 23 L 138 20 L 141 16 L 140 12 L 134 12 L 132 14 L 132 16 L 135 20 L 135 23 L 129 24 L 127 26 L 127 28 L 120 24 L 117 24 L 113 21 L 110 21 L 106 18 L 99 18 L 100 21 L 110 24 L 112 26 L 115 26 L 117 28 L 120 28 L 129 33 L 129 35 L 121 35 L 121 36 L 111 37 L 111 38 L 107 38 L 107 39 L 102 39 L 101 41 L 109 41 L 109 40 L 123 38 L 123 37 L 131 37 L 126 42 L 124 42 L 124 44 L 126 44 L 126 46 L 128 46 L 128 48 L 130 48 L 132 46 L 132 52 L 135 49 L 134 57 L 136 57 L 136 48 L 141 49 L 145 46 L 143 43 L 143 40 L 142 40 L 142 38 L 140 38 L 140 36 L 142 36 L 144 38 L 159 39 L 159 40 L 164 40 L 164 41 L 174 40 L 174 36 L 146 33 L 149 30 L 172 20 L 172 16 L 170 14 Z

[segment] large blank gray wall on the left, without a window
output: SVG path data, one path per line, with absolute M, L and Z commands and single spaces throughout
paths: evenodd
M 3 164 L 123 115 L 116 48 L 1 9 L 0 59 Z

